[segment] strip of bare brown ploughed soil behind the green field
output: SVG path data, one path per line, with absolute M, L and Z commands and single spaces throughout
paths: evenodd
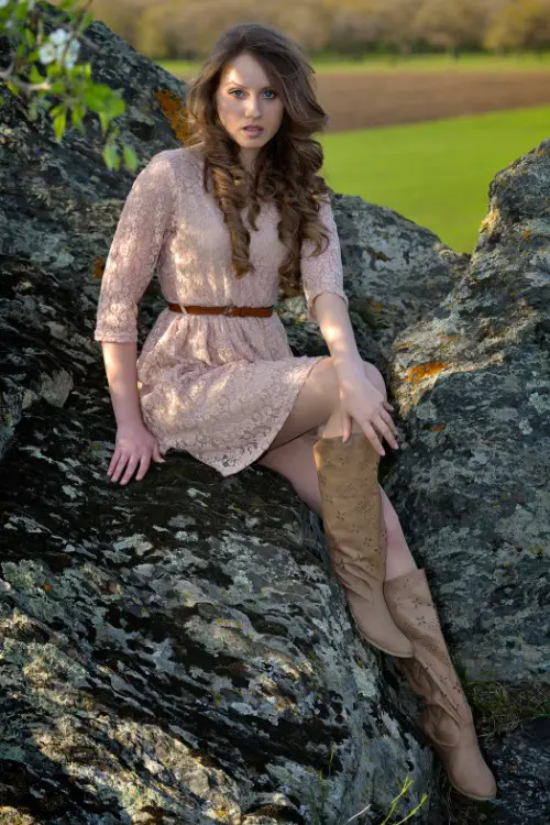
M 317 75 L 327 132 L 550 105 L 550 72 Z M 550 134 L 550 121 L 548 124 Z

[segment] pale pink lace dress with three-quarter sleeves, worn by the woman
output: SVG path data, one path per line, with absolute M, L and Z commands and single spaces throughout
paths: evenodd
M 167 301 L 265 307 L 277 302 L 278 267 L 286 248 L 278 210 L 263 205 L 251 232 L 256 272 L 237 279 L 229 232 L 213 197 L 202 188 L 196 150 L 166 150 L 136 176 L 107 257 L 98 300 L 96 341 L 138 341 L 138 304 L 155 268 Z M 320 219 L 330 245 L 301 255 L 309 320 L 314 298 L 337 293 L 348 306 L 337 228 L 329 204 Z M 191 315 L 166 307 L 138 359 L 143 420 L 161 452 L 184 450 L 221 475 L 246 468 L 267 450 L 285 422 L 318 356 L 295 358 L 285 328 L 270 318 Z

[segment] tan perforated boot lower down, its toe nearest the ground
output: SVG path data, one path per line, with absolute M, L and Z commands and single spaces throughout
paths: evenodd
M 421 727 L 447 768 L 457 791 L 474 800 L 496 795 L 496 782 L 477 743 L 472 712 L 441 632 L 424 570 L 389 579 L 384 584 L 387 606 L 396 624 L 413 641 L 415 658 L 400 669 L 427 710 Z

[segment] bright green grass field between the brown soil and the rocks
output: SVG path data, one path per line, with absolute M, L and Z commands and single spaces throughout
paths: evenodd
M 472 252 L 498 169 L 550 138 L 550 106 L 318 135 L 322 174 Z

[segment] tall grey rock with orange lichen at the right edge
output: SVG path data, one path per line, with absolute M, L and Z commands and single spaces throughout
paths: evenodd
M 550 151 L 498 173 L 468 272 L 397 336 L 385 490 L 472 680 L 548 682 Z

